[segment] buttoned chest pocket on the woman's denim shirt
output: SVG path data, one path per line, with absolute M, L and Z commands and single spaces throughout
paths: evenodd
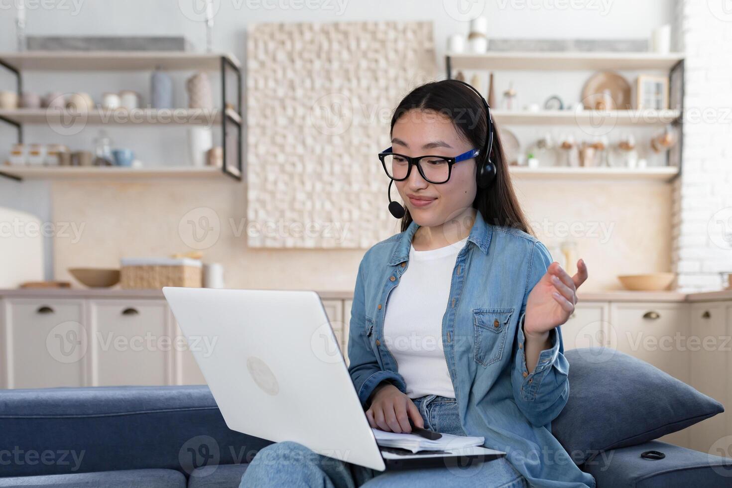
M 506 346 L 513 309 L 473 309 L 473 356 L 482 366 L 500 361 Z

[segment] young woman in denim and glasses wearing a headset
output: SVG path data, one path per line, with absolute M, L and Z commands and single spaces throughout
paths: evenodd
M 242 487 L 595 486 L 550 432 L 569 394 L 560 326 L 587 267 L 570 277 L 531 234 L 486 106 L 456 80 L 397 106 L 379 158 L 406 211 L 359 266 L 348 370 L 371 427 L 483 436 L 507 456 L 382 473 L 275 443 Z

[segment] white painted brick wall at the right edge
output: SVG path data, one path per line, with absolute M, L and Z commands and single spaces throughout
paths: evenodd
M 685 51 L 684 148 L 673 191 L 673 271 L 683 292 L 719 290 L 732 271 L 732 14 L 724 0 L 676 0 Z

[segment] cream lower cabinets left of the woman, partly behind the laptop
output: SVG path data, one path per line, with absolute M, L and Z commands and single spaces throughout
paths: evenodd
M 167 302 L 157 292 L 74 290 L 15 298 L 0 293 L 0 388 L 206 384 Z M 48 292 L 47 292 L 48 293 Z M 84 296 L 83 293 L 89 293 Z M 344 350 L 341 294 L 322 297 Z

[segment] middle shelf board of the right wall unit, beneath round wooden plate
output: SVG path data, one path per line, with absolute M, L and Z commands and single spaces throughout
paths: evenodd
M 619 124 L 665 126 L 677 121 L 680 110 L 490 110 L 501 124 Z

